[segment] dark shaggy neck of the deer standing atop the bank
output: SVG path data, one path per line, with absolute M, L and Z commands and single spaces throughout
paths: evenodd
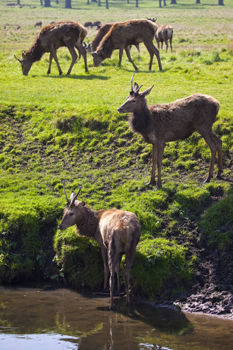
M 130 114 L 130 127 L 143 136 L 151 132 L 151 111 L 146 104 Z

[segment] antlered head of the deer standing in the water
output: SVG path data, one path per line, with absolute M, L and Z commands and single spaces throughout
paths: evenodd
M 73 226 L 75 224 L 79 224 L 82 221 L 82 208 L 86 205 L 86 202 L 78 201 L 77 196 L 79 195 L 81 191 L 81 186 L 79 187 L 79 190 L 77 194 L 75 194 L 75 191 L 71 192 L 71 200 L 68 199 L 66 196 L 66 189 L 64 187 L 64 181 L 63 181 L 63 189 L 64 189 L 64 195 L 66 197 L 66 209 L 64 209 L 64 215 L 62 218 L 62 221 L 58 225 L 58 229 L 61 231 L 64 231 L 70 226 Z

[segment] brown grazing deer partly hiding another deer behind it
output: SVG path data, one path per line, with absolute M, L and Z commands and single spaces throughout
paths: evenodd
M 103 60 L 112 56 L 113 50 L 119 49 L 119 67 L 121 67 L 123 49 L 125 49 L 128 60 L 132 63 L 134 69 L 137 70 L 138 68 L 130 56 L 129 45 L 144 43 L 150 55 L 149 70 L 151 70 L 153 58 L 154 55 L 156 55 L 158 66 L 160 71 L 162 71 L 160 54 L 153 44 L 156 30 L 156 23 L 148 21 L 147 19 L 132 19 L 130 21 L 114 23 L 109 32 L 103 36 L 97 50 L 91 52 L 93 55 L 94 66 L 98 67 Z

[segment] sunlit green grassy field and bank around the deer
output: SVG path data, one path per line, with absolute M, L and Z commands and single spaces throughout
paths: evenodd
M 21 8 L 7 6 L 9 2 L 0 1 L 0 281 L 47 277 L 76 288 L 101 285 L 97 244 L 77 237 L 74 229 L 56 231 L 66 179 L 68 191 L 82 185 L 82 199 L 89 206 L 118 207 L 138 215 L 143 234 L 132 270 L 134 294 L 159 297 L 184 290 L 198 269 L 194 247 L 201 244 L 221 253 L 232 246 L 231 1 L 225 0 L 223 7 L 210 0 L 201 5 L 179 0 L 161 9 L 158 1 L 141 1 L 139 8 L 111 1 L 110 10 L 86 1 L 73 1 L 71 10 L 64 9 L 64 1 L 52 2 L 51 8 L 41 8 L 39 1 L 21 1 Z M 46 74 L 48 54 L 34 63 L 27 77 L 14 59 L 32 45 L 38 20 L 43 25 L 63 19 L 106 23 L 147 16 L 173 25 L 173 53 L 160 50 L 163 71 L 154 59 L 149 72 L 143 45 L 140 54 L 132 48 L 139 68 L 134 80 L 143 89 L 154 84 L 150 104 L 196 92 L 219 100 L 214 132 L 223 140 L 221 180 L 202 184 L 210 151 L 195 133 L 167 144 L 162 189 L 154 192 L 145 185 L 151 145 L 130 131 L 127 115 L 116 111 L 130 92 L 134 72 L 125 55 L 121 69 L 116 51 L 98 68 L 88 56 L 89 72 L 81 59 L 69 76 L 59 76 L 54 62 L 51 75 Z M 95 34 L 88 29 L 86 43 Z M 66 48 L 58 50 L 58 60 L 67 71 L 71 57 Z M 171 290 L 166 292 L 168 281 Z

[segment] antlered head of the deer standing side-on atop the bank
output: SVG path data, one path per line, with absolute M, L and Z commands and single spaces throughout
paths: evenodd
M 131 78 L 130 95 L 127 97 L 126 102 L 121 107 L 117 108 L 119 113 L 135 113 L 138 111 L 138 109 L 140 109 L 140 106 L 144 106 L 146 104 L 145 96 L 149 95 L 151 89 L 154 86 L 152 85 L 149 89 L 143 91 L 143 93 L 139 93 L 139 90 L 143 85 L 139 86 L 136 82 L 134 82 L 133 87 L 134 74 Z

